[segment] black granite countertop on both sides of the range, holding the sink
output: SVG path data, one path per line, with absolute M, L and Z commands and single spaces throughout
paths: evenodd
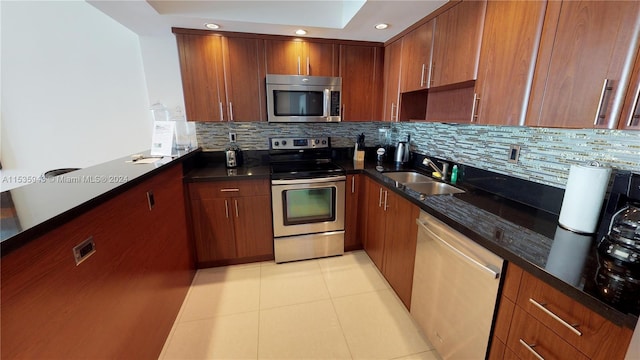
M 229 173 L 224 157 L 219 156 L 212 160 L 216 155 L 209 154 L 208 160 L 201 161 L 200 167 L 187 174 L 185 181 L 269 176 L 266 152 L 252 154 L 243 166 Z M 419 154 L 413 157 L 411 164 L 396 166 L 371 161 L 375 155 L 368 153 L 366 162 L 355 164 L 347 152 L 337 154 L 335 162 L 348 174 L 366 174 L 389 187 L 423 211 L 613 323 L 635 328 L 636 309 L 612 305 L 599 294 L 595 279 L 601 266 L 595 235 L 577 235 L 558 226 L 564 190 L 461 166 L 460 180 L 455 186 L 465 193 L 425 198 L 385 176 L 385 172 L 406 170 L 431 174 L 430 168 L 421 165 L 424 157 Z M 513 200 L 515 194 L 524 202 Z

